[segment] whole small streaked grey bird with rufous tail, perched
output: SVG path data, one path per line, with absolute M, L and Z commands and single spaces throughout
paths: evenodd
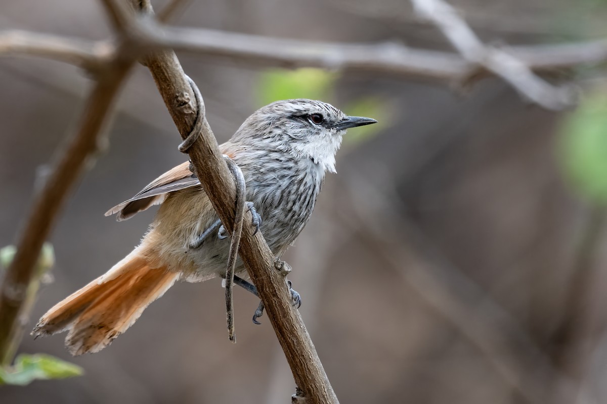
M 279 258 L 303 230 L 348 128 L 375 124 L 321 101 L 276 101 L 247 118 L 220 151 L 242 171 L 246 200 Z M 188 162 L 162 174 L 106 216 L 126 220 L 160 205 L 140 244 L 107 273 L 50 308 L 32 331 L 67 331 L 73 356 L 96 353 L 123 334 L 177 280 L 225 277 L 229 242 Z M 261 219 L 261 220 L 259 220 Z M 257 221 L 256 221 L 257 220 Z M 246 277 L 242 260 L 236 274 Z M 246 282 L 245 282 L 246 283 Z

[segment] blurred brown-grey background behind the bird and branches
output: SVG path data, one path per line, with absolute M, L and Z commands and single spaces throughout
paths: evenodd
M 607 34 L 604 0 L 451 1 L 483 41 L 557 44 Z M 155 1 L 158 9 L 164 2 Z M 198 0 L 174 24 L 319 41 L 450 50 L 407 1 Z M 4 0 L 0 25 L 111 35 L 98 1 Z M 565 77 L 580 106 L 526 104 L 495 78 L 465 92 L 373 73 L 262 70 L 178 54 L 226 141 L 254 110 L 319 98 L 378 119 L 350 130 L 310 223 L 285 256 L 300 312 L 342 403 L 607 402 L 607 80 Z M 75 127 L 90 81 L 43 59 L 0 60 L 0 246 L 13 243 L 36 173 Z M 109 147 L 59 216 L 50 306 L 137 245 L 154 208 L 103 213 L 185 160 L 149 71 L 124 87 Z M 219 281 L 180 283 L 101 353 L 25 336 L 84 376 L 2 386 L 2 403 L 285 403 L 290 369 L 257 299 L 236 290 L 238 343 Z

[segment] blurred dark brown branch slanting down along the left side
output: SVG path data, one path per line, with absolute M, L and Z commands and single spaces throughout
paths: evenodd
M 115 95 L 132 62 L 116 61 L 100 73 L 84 107 L 80 126 L 72 142 L 61 153 L 58 164 L 48 177 L 25 222 L 17 242 L 17 253 L 5 273 L 0 293 L 0 360 L 12 361 L 8 348 L 17 334 L 19 313 L 27 287 L 32 280 L 42 243 L 55 224 L 67 193 L 80 176 L 90 155 L 97 150 L 97 141 L 106 122 Z

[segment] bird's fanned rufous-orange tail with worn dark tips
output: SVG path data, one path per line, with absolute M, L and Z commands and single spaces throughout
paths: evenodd
M 140 250 L 135 248 L 106 274 L 53 306 L 32 335 L 69 331 L 66 346 L 74 356 L 95 353 L 109 345 L 179 277 L 166 268 L 151 268 L 147 254 Z

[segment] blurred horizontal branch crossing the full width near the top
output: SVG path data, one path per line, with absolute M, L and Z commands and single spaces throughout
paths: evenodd
M 148 30 L 149 47 L 170 47 L 200 55 L 285 68 L 320 67 L 364 70 L 404 78 L 449 81 L 455 84 L 480 79 L 492 71 L 450 52 L 410 48 L 396 42 L 345 44 L 299 41 L 203 28 L 160 27 Z M 109 42 L 86 41 L 29 31 L 0 31 L 0 55 L 42 56 L 94 70 L 115 48 Z M 607 61 L 607 41 L 509 47 L 509 55 L 536 73 L 551 73 L 578 65 Z M 481 71 L 479 69 L 481 68 Z

